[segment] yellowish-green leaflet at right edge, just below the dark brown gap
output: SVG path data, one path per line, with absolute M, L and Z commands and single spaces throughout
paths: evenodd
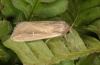
M 81 35 L 85 45 L 88 48 L 89 52 L 100 52 L 100 41 L 94 37 L 90 37 L 87 35 Z

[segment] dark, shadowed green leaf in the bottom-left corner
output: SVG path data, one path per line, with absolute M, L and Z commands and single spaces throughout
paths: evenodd
M 0 42 L 0 64 L 13 65 L 19 62 L 20 60 L 17 55 Z

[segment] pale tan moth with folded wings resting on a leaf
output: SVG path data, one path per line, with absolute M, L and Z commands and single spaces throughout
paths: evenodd
M 26 42 L 65 35 L 70 25 L 65 21 L 24 21 L 16 25 L 11 39 Z

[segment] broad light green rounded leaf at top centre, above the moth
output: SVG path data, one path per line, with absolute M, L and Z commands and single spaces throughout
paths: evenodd
M 43 18 L 53 17 L 63 13 L 67 9 L 67 0 L 56 0 L 51 4 L 39 3 L 36 5 L 33 15 Z

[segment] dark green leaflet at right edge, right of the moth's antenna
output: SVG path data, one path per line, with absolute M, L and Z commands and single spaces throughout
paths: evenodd
M 80 12 L 80 14 L 77 17 L 76 24 L 89 25 L 90 23 L 93 22 L 93 20 L 96 20 L 100 17 L 99 11 L 100 11 L 100 7 L 93 7 L 93 8 Z

